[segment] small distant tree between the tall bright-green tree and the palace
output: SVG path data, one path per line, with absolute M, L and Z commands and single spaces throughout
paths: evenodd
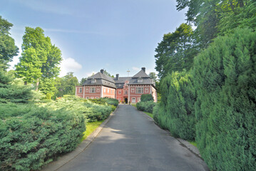
M 78 79 L 73 76 L 73 72 L 69 72 L 62 78 L 56 78 L 56 95 L 55 98 L 63 97 L 63 95 L 75 95 Z

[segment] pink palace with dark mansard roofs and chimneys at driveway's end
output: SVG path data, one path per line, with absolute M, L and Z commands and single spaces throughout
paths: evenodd
M 119 77 L 116 74 L 116 78 L 107 76 L 101 69 L 82 86 L 76 86 L 76 95 L 87 99 L 108 97 L 123 103 L 138 103 L 142 94 L 152 94 L 154 101 L 157 101 L 155 85 L 144 67 L 133 77 Z

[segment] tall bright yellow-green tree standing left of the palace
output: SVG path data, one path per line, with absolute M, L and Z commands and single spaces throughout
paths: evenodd
M 39 88 L 44 93 L 53 94 L 53 78 L 59 74 L 61 60 L 60 49 L 51 44 L 49 37 L 44 36 L 42 28 L 26 27 L 20 62 L 16 65 L 19 77 L 23 77 L 26 83 L 36 83 L 36 89 L 40 81 L 42 85 Z M 46 83 L 48 81 L 51 83 Z

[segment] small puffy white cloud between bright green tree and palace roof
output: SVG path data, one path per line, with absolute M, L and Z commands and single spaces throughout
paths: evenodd
M 63 58 L 61 61 L 61 73 L 59 77 L 66 76 L 68 72 L 77 72 L 83 68 L 74 58 Z

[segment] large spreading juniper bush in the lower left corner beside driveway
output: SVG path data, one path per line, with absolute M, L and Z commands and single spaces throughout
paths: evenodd
M 0 104 L 0 170 L 39 170 L 71 152 L 86 130 L 83 115 L 36 105 Z

